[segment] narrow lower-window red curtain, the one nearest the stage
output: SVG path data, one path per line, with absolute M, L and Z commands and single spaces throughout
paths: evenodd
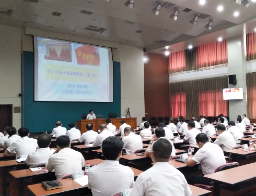
M 176 93 L 171 95 L 171 117 L 186 117 L 186 95 L 185 93 Z

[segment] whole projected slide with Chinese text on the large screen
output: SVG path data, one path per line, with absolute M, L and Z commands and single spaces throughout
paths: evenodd
M 111 48 L 34 36 L 34 101 L 113 102 Z

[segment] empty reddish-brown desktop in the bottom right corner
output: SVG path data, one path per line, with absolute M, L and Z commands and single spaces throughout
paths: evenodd
M 254 172 L 255 167 L 256 167 L 256 163 L 251 163 L 251 164 L 227 169 L 222 172 L 208 174 L 203 177 L 206 177 L 213 181 L 219 181 L 229 185 L 234 185 L 234 184 L 238 184 L 241 181 L 255 178 L 256 177 L 256 173 Z

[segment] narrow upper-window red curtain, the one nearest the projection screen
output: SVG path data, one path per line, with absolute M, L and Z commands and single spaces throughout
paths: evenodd
M 184 50 L 172 53 L 169 56 L 169 73 L 182 72 L 185 68 Z

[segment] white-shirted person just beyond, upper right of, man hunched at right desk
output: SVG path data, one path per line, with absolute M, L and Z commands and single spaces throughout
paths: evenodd
M 223 151 L 228 151 L 237 146 L 236 141 L 232 134 L 226 131 L 226 127 L 224 125 L 217 125 L 219 136 L 214 141 L 216 145 L 219 145 Z

